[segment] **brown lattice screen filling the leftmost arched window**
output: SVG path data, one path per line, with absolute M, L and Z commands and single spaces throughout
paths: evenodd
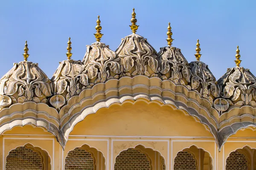
M 6 158 L 6 170 L 43 170 L 42 157 L 29 148 L 17 147 Z

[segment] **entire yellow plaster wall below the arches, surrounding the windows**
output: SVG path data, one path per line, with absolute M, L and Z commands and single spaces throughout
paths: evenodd
M 10 150 L 28 143 L 47 151 L 52 170 L 64 170 L 68 152 L 84 144 L 102 153 L 102 156 L 96 152 L 94 155 L 96 159 L 102 160 L 100 162 L 105 164 L 106 170 L 114 170 L 116 156 L 131 147 L 147 152 L 153 170 L 155 167 L 159 170 L 160 156 L 165 159 L 166 170 L 168 166 L 172 170 L 176 154 L 189 148 L 197 161 L 198 148 L 208 152 L 212 158 L 213 170 L 223 170 L 225 160 L 232 151 L 247 145 L 256 148 L 255 128 L 250 127 L 230 136 L 218 152 L 208 128 L 196 120 L 181 110 L 174 110 L 157 102 L 113 104 L 109 108 L 99 109 L 79 122 L 70 133 L 65 150 L 62 150 L 55 136 L 44 128 L 33 125 L 13 127 L 0 136 L 0 170 L 3 160 L 5 161 L 3 158 L 6 158 Z M 203 161 L 202 158 L 203 155 Z M 205 170 L 202 161 L 199 170 Z M 100 167 L 104 167 L 102 164 L 99 163 Z

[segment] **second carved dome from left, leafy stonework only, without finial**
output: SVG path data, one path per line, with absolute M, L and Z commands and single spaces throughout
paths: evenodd
M 78 95 L 83 89 L 91 88 L 88 76 L 83 72 L 84 66 L 80 60 L 62 61 L 52 77 L 54 94 L 62 94 L 68 100 L 70 97 Z

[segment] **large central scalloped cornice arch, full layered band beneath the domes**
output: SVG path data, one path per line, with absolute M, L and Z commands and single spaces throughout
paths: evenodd
M 156 101 L 186 111 L 207 125 L 217 142 L 218 112 L 207 99 L 201 98 L 198 93 L 189 91 L 183 85 L 175 85 L 172 81 L 140 75 L 133 78 L 122 77 L 119 80 L 110 79 L 94 85 L 91 89 L 85 89 L 79 96 L 71 97 L 59 113 L 64 145 L 73 127 L 87 115 L 96 113 L 100 108 L 108 108 L 113 103 L 122 104 L 138 99 Z

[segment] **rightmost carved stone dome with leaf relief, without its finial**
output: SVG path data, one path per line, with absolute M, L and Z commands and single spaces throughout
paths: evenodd
M 221 96 L 230 105 L 256 106 L 256 77 L 243 67 L 228 68 L 219 80 Z

